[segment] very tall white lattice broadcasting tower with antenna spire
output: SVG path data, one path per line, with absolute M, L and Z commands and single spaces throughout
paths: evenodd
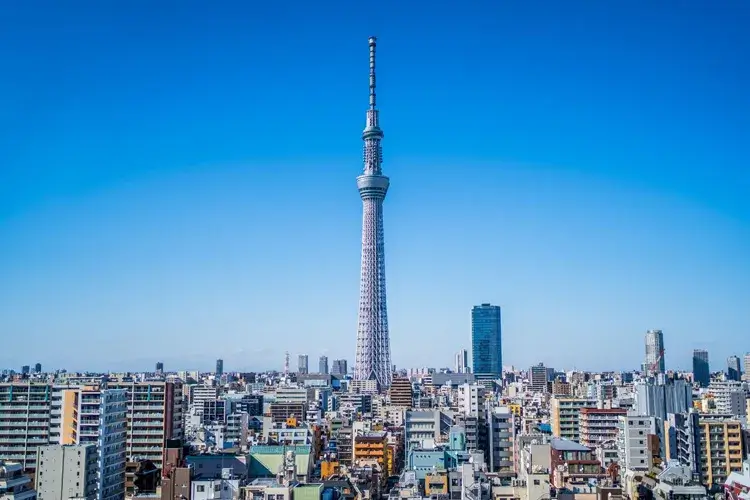
M 385 300 L 385 242 L 383 200 L 388 177 L 383 175 L 383 149 L 375 106 L 375 37 L 370 37 L 370 107 L 362 132 L 364 173 L 357 177 L 362 198 L 362 271 L 359 283 L 359 323 L 355 380 L 376 380 L 380 389 L 391 385 L 391 341 Z

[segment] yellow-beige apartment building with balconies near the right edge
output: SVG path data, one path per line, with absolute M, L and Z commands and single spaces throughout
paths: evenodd
M 731 472 L 742 472 L 742 426 L 737 420 L 701 415 L 701 475 L 707 485 L 724 484 Z

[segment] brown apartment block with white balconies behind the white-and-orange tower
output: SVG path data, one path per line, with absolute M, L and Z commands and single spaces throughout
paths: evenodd
M 183 437 L 183 393 L 180 381 L 111 381 L 127 397 L 127 458 L 151 460 L 162 468 L 162 449 L 169 439 Z

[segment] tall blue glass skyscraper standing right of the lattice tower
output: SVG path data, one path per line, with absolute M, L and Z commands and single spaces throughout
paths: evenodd
M 482 304 L 471 310 L 471 357 L 474 376 L 500 378 L 503 375 L 500 306 Z

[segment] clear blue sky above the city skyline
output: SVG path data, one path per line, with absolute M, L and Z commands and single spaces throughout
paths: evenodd
M 398 366 L 750 350 L 750 3 L 23 0 L 0 366 L 354 361 L 367 37 Z

